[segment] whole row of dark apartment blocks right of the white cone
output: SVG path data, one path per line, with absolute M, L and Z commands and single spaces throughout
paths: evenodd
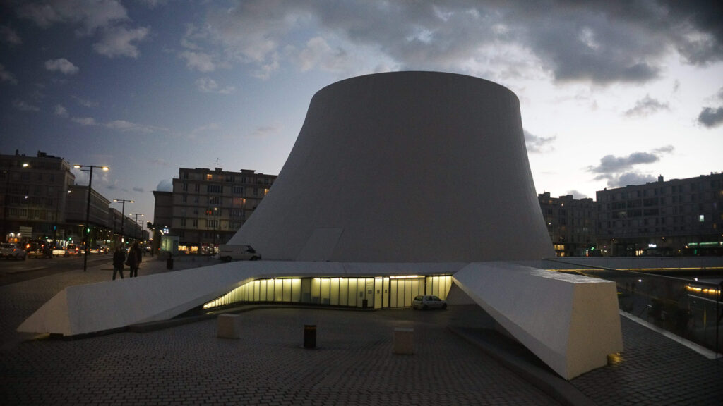
M 538 199 L 557 256 L 723 255 L 723 173 Z

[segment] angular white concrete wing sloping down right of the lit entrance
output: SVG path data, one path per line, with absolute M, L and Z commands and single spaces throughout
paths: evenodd
M 565 379 L 623 350 L 615 282 L 509 262 L 469 264 L 453 280 Z

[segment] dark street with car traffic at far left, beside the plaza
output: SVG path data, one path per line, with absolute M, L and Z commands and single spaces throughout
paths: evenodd
M 88 256 L 88 266 L 108 262 L 108 266 L 111 267 L 110 262 L 112 260 L 113 254 L 90 254 Z M 82 267 L 82 255 L 67 258 L 54 256 L 52 259 L 27 258 L 25 261 L 3 258 L 0 259 L 0 286 L 55 275 L 72 269 L 81 269 Z

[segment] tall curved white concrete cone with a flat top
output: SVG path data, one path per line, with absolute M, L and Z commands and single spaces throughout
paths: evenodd
M 439 72 L 371 74 L 317 92 L 268 196 L 229 243 L 299 261 L 554 255 L 517 97 Z

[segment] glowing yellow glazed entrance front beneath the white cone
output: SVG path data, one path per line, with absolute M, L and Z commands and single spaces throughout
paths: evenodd
M 304 303 L 357 308 L 409 307 L 416 295 L 442 299 L 451 275 L 398 277 L 283 277 L 253 280 L 203 305 L 204 309 L 239 303 Z

